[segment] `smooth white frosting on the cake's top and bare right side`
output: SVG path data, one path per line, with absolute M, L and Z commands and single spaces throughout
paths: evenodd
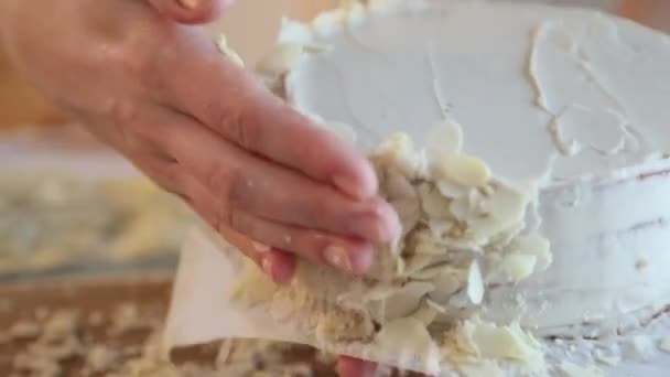
M 670 303 L 670 180 L 648 176 L 670 170 L 670 37 L 585 10 L 371 3 L 284 28 L 284 44 L 328 46 L 292 64 L 284 95 L 364 150 L 455 119 L 497 179 L 542 187 L 527 225 L 553 263 L 487 289 L 485 317 L 597 335 Z

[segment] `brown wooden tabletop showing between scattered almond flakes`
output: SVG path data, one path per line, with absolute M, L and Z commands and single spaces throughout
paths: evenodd
M 105 376 L 107 373 L 86 373 L 86 365 L 90 365 L 85 362 L 86 352 L 105 347 L 115 353 L 129 351 L 133 355 L 119 358 L 115 362 L 117 364 L 111 363 L 114 367 L 139 357 L 148 337 L 161 330 L 171 286 L 172 271 L 141 277 L 67 278 L 0 284 L 0 331 L 7 331 L 18 323 L 45 323 L 57 313 L 75 313 L 79 317 L 76 336 L 85 349 L 60 363 L 64 369 L 63 376 Z M 134 325 L 119 325 L 118 319 L 122 316 L 134 317 Z M 0 340 L 0 376 L 35 376 L 26 371 L 18 374 L 15 363 L 17 356 L 26 354 L 37 337 L 28 334 L 11 342 Z M 212 367 L 218 346 L 218 343 L 213 343 L 176 349 L 171 358 L 176 365 L 196 363 Z M 315 353 L 304 347 L 289 351 L 284 354 L 284 360 L 309 365 L 315 376 L 335 377 L 332 367 L 316 362 Z M 252 365 L 251 362 L 249 365 Z

